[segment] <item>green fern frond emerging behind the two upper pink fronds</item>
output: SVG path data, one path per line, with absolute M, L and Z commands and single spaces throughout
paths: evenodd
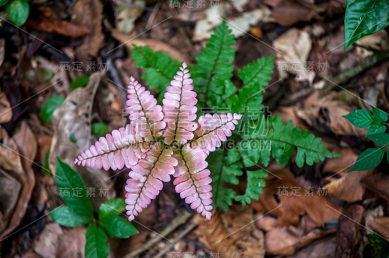
M 147 79 L 146 83 L 150 89 L 156 88 L 159 98 L 163 98 L 166 86 L 170 84 L 179 66 L 178 61 L 163 52 L 154 52 L 149 47 L 137 47 L 132 49 L 132 59 L 138 68 L 147 69 L 143 73 L 142 79 Z

